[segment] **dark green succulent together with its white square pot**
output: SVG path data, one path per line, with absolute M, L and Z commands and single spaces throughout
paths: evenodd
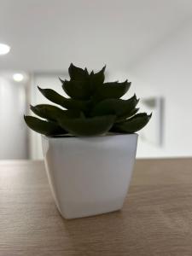
M 137 113 L 137 96 L 120 99 L 131 83 L 104 83 L 98 73 L 70 65 L 61 80 L 69 98 L 38 90 L 60 108 L 31 106 L 38 119 L 26 125 L 41 133 L 49 184 L 61 215 L 80 218 L 119 210 L 125 201 L 137 151 L 136 131 L 151 114 Z M 65 109 L 64 109 L 65 108 Z

